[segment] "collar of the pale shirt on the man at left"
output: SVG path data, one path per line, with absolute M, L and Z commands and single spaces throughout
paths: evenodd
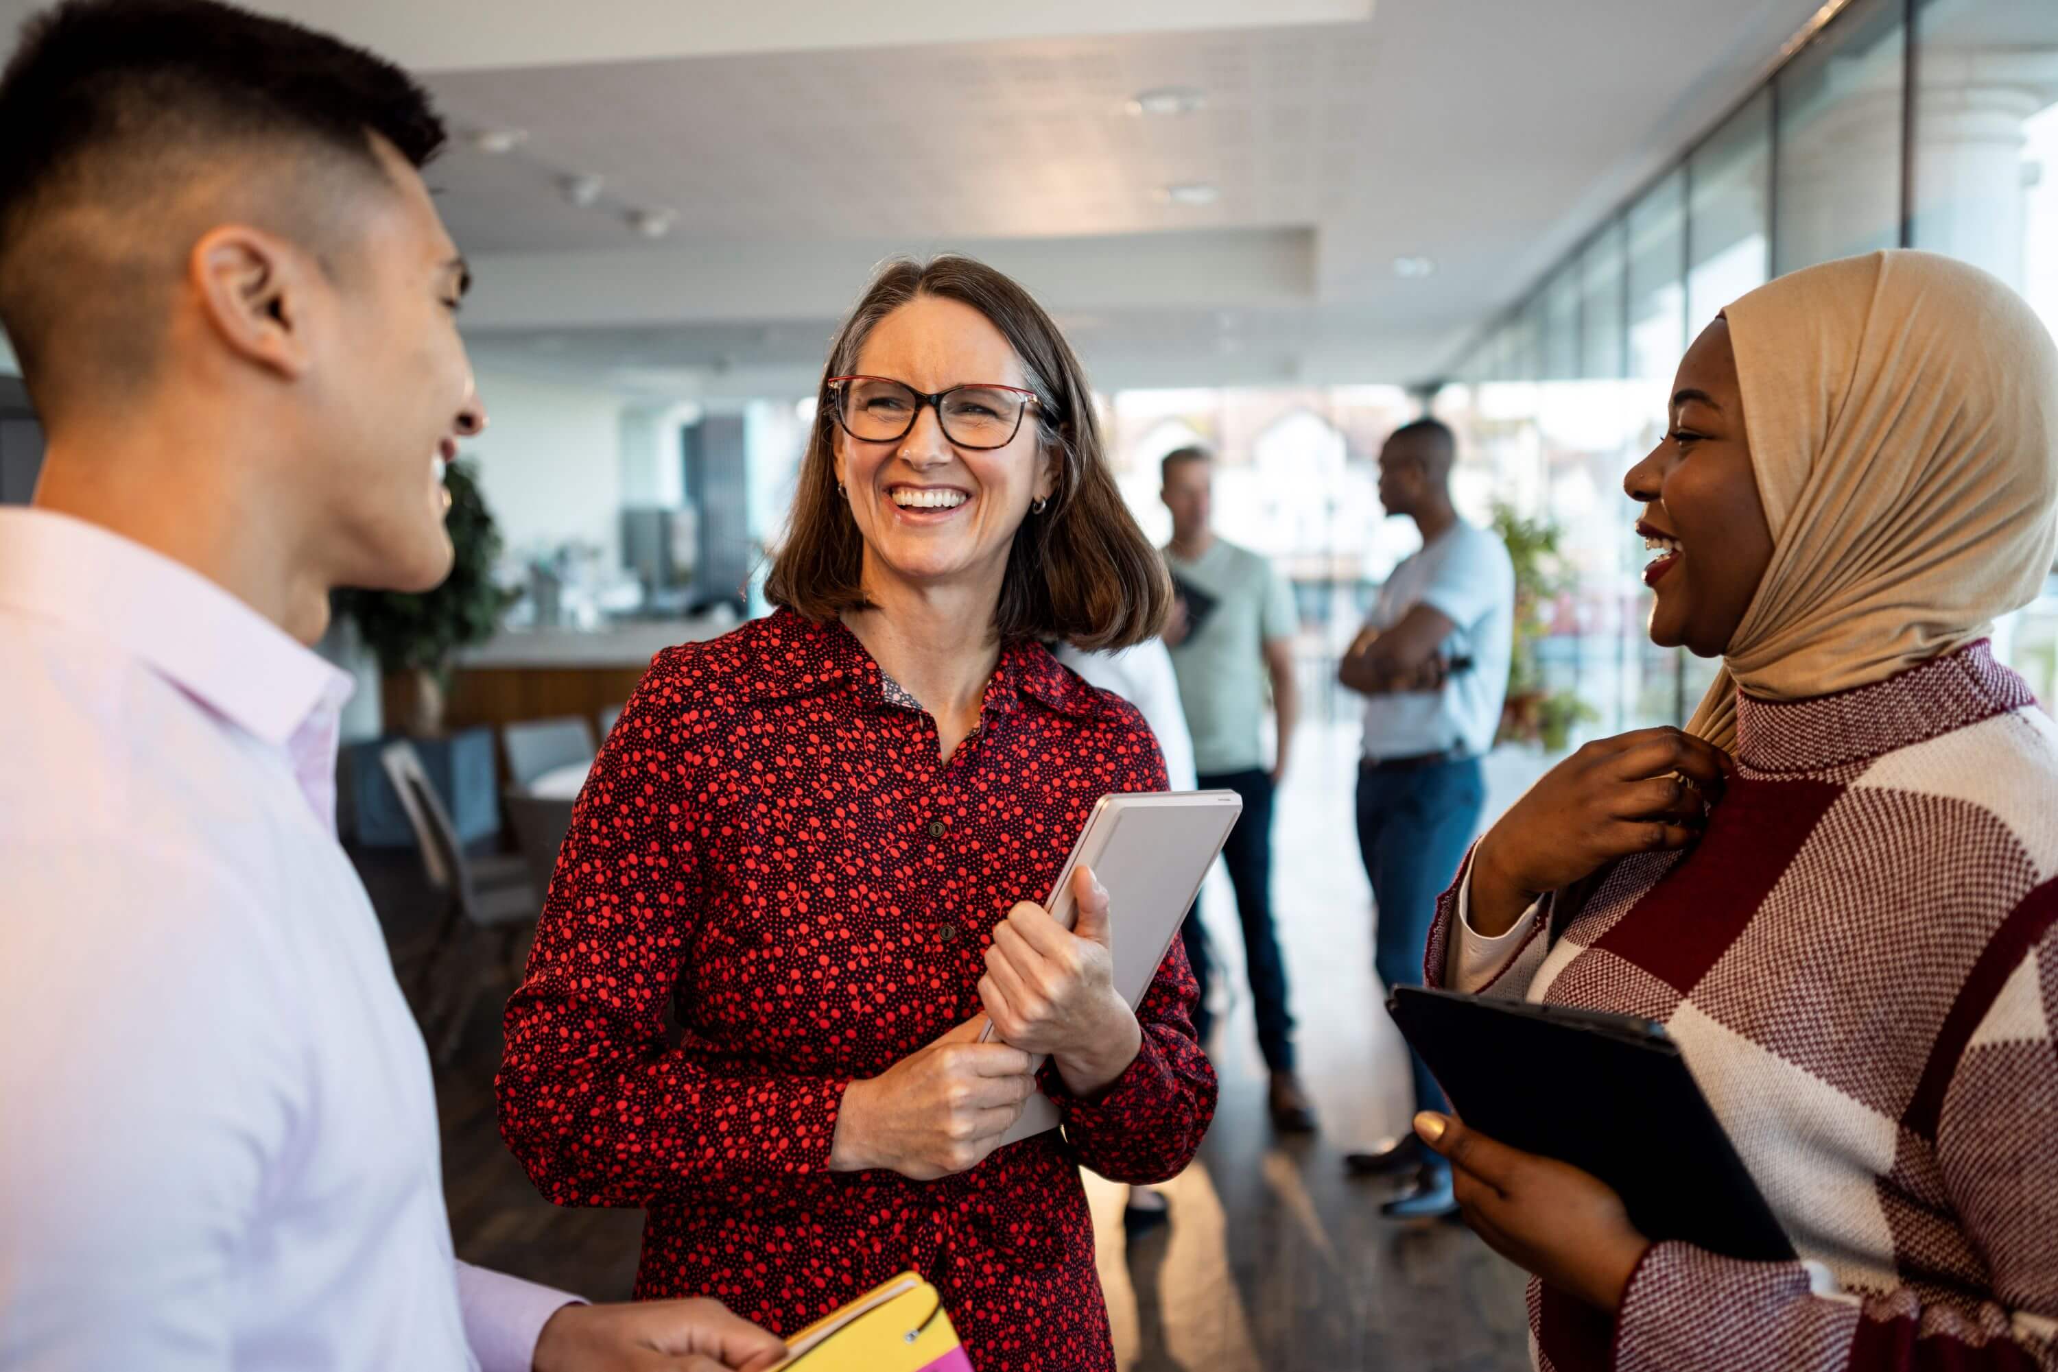
M 274 747 L 354 687 L 191 568 L 49 510 L 0 510 L 0 605 L 111 640 Z

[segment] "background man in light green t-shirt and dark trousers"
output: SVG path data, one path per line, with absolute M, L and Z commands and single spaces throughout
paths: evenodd
M 1173 522 L 1165 562 L 1179 592 L 1165 644 L 1179 675 L 1179 701 L 1194 732 L 1202 790 L 1243 796 L 1243 819 L 1229 833 L 1222 862 L 1243 924 L 1257 1049 L 1272 1070 L 1272 1123 L 1288 1133 L 1309 1133 L 1315 1113 L 1294 1076 L 1286 961 L 1272 922 L 1272 796 L 1286 778 L 1286 749 L 1299 714 L 1292 679 L 1297 615 L 1292 594 L 1272 564 L 1214 537 L 1208 527 L 1212 490 L 1214 461 L 1202 448 L 1179 448 L 1165 459 L 1165 508 Z M 1278 751 L 1270 765 L 1257 728 L 1268 691 L 1278 718 Z M 1196 975 L 1206 973 L 1196 969 Z

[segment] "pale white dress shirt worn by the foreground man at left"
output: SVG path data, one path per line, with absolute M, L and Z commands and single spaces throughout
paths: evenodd
M 0 510 L 0 1366 L 527 1370 L 455 1263 L 422 1035 L 335 841 L 350 679 Z

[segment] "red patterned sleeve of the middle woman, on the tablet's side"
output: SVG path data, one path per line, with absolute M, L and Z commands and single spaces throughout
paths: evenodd
M 1130 712 L 1134 714 L 1134 712 Z M 1150 736 L 1142 716 L 1134 726 Z M 1165 759 L 1157 743 L 1122 790 L 1169 790 Z M 1091 1100 L 1074 1096 L 1045 1063 L 1043 1092 L 1058 1103 L 1064 1138 L 1083 1166 L 1109 1181 L 1148 1185 L 1185 1170 L 1214 1119 L 1214 1066 L 1194 1035 L 1194 1006 L 1200 983 L 1177 938 L 1159 965 L 1157 977 L 1136 1006 L 1142 1047 L 1136 1059 Z

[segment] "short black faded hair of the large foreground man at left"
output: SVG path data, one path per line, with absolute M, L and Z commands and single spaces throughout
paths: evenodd
M 31 393 L 64 370 L 60 337 L 95 383 L 150 370 L 152 313 L 206 232 L 187 239 L 193 216 L 173 212 L 196 185 L 233 187 L 243 222 L 321 253 L 342 218 L 338 171 L 358 173 L 358 189 L 385 177 L 372 134 L 414 167 L 445 140 L 428 95 L 391 62 L 214 0 L 68 0 L 35 14 L 0 74 L 0 327 Z

